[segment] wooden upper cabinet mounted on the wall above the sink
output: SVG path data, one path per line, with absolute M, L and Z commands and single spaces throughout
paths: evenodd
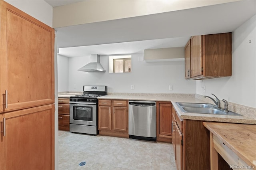
M 192 36 L 190 60 L 185 47 L 185 78 L 209 79 L 232 75 L 232 33 Z M 190 71 L 189 70 L 190 65 Z

